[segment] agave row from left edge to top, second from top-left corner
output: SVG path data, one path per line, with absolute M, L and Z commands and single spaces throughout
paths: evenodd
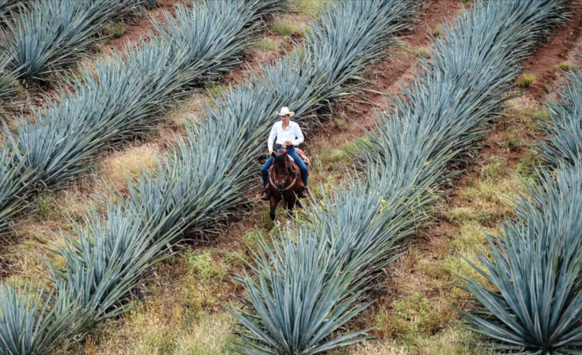
M 70 90 L 61 90 L 58 101 L 17 119 L 13 132 L 4 129 L 0 233 L 11 230 L 10 218 L 26 207 L 29 194 L 66 187 L 95 166 L 95 152 L 152 133 L 176 98 L 238 65 L 243 49 L 262 29 L 260 19 L 285 3 L 178 5 L 175 15 L 165 12 L 164 23 L 155 23 L 155 31 L 139 46 L 87 65 L 80 77 L 70 79 Z

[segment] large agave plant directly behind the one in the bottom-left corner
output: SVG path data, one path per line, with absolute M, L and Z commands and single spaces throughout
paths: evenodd
M 105 212 L 89 208 L 83 223 L 71 221 L 77 237 L 62 233 L 55 253 L 65 260 L 65 269 L 45 261 L 53 280 L 62 282 L 69 299 L 79 299 L 83 312 L 94 320 L 129 310 L 119 303 L 147 269 L 168 257 L 170 243 L 176 239 L 177 229 L 162 235 L 161 224 L 124 211 L 125 207 L 113 204 Z

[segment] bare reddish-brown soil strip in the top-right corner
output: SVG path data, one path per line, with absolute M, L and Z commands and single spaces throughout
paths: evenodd
M 582 4 L 574 3 L 579 6 L 573 9 L 573 16 L 565 24 L 558 27 L 555 31 L 556 36 L 538 48 L 530 58 L 522 63 L 525 73 L 533 73 L 537 77 L 535 81 L 527 88 L 526 97 L 544 100 L 548 94 L 548 87 L 552 90 L 555 84 L 563 83 L 563 76 L 556 65 L 560 62 L 569 61 L 576 43 L 582 41 Z

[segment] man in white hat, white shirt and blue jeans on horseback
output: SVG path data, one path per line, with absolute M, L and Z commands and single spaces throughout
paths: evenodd
M 267 182 L 269 179 L 269 169 L 274 161 L 274 150 L 273 150 L 273 143 L 275 142 L 276 138 L 276 146 L 275 150 L 279 151 L 282 148 L 287 150 L 287 154 L 289 157 L 293 158 L 295 164 L 299 168 L 301 172 L 301 181 L 303 182 L 303 186 L 301 189 L 301 194 L 299 197 L 304 198 L 308 197 L 308 189 L 307 189 L 307 165 L 303 162 L 303 159 L 299 157 L 297 154 L 295 147 L 301 143 L 303 143 L 303 133 L 301 132 L 301 128 L 297 123 L 290 121 L 289 119 L 292 118 L 295 113 L 289 112 L 289 108 L 283 107 L 281 108 L 281 112 L 277 112 L 279 116 L 281 116 L 281 120 L 276 122 L 271 129 L 271 133 L 269 134 L 269 139 L 267 141 L 267 147 L 269 150 L 269 158 L 265 165 L 261 168 L 261 176 L 262 176 L 262 187 L 263 192 L 261 196 L 261 200 L 268 201 L 269 200 L 269 190 L 267 188 Z

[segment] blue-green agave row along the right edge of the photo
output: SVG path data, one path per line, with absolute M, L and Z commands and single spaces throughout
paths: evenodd
M 539 122 L 541 183 L 516 199 L 515 217 L 473 265 L 488 283 L 463 278 L 478 310 L 469 328 L 498 349 L 528 354 L 582 353 L 582 56 Z

